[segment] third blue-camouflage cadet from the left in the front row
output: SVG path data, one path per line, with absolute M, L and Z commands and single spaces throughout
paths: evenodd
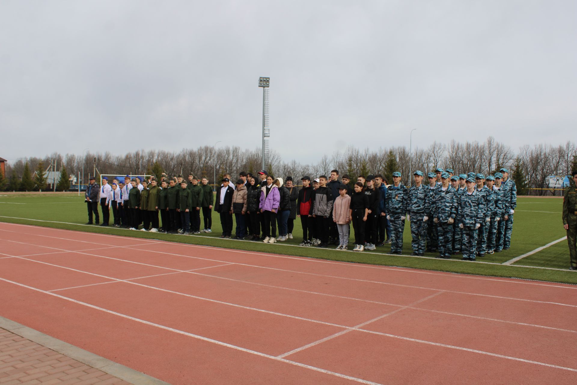
M 457 191 L 449 185 L 449 174 L 441 174 L 442 184 L 433 193 L 432 215 L 437 224 L 439 239 L 439 256 L 437 258 L 451 258 L 453 243 L 453 223 L 457 215 Z

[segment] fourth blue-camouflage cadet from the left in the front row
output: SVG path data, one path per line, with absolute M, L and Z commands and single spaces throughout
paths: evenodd
M 477 233 L 485 220 L 484 199 L 475 188 L 475 180 L 467 178 L 467 191 L 459 197 L 457 223 L 463 229 L 463 260 L 475 260 Z

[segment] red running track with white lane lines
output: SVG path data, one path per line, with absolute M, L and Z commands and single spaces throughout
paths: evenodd
M 0 315 L 171 384 L 575 384 L 577 287 L 0 223 Z

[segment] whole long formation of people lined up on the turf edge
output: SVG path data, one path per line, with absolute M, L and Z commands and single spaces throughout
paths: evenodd
M 294 220 L 299 218 L 301 246 L 336 245 L 347 250 L 352 222 L 353 251 L 391 244 L 391 253 L 401 254 L 408 220 L 415 256 L 439 252 L 439 258 L 448 259 L 463 253 L 463 260 L 475 260 L 510 247 L 516 187 L 507 169 L 485 177 L 455 175 L 452 169 L 439 168 L 426 175 L 428 184 L 425 174 L 417 170 L 413 178 L 410 187 L 402 183 L 399 172 L 392 174 L 391 185 L 381 174 L 359 175 L 355 182 L 349 175 L 339 180 L 339 171 L 332 170 L 329 177 L 314 180 L 305 175 L 299 189 L 290 176 L 283 180 L 265 170 L 257 175 L 241 172 L 234 184 L 224 174 L 215 197 L 208 179 L 192 173 L 188 181 L 182 175 L 169 179 L 163 174 L 160 181 L 154 176 L 131 180 L 127 175 L 123 181 L 117 178 L 108 184 L 103 177 L 102 186 L 90 177 L 85 194 L 87 224 L 99 224 L 100 204 L 100 226 L 109 225 L 112 209 L 115 227 L 137 230 L 142 225 L 140 231 L 211 233 L 215 210 L 220 215 L 221 238 L 232 237 L 234 215 L 235 239 L 275 243 L 293 239 Z

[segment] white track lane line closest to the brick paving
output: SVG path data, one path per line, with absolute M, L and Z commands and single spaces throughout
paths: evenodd
M 104 309 L 104 308 L 101 308 L 100 306 L 91 305 L 91 304 L 88 304 L 87 302 L 82 302 L 82 301 L 74 300 L 73 298 L 61 296 L 60 294 L 50 293 L 50 292 L 48 292 L 48 291 L 46 291 L 46 290 L 38 289 L 38 288 L 36 288 L 36 287 L 32 287 L 32 286 L 28 286 L 28 285 L 23 285 L 22 283 L 18 283 L 18 282 L 9 281 L 8 279 L 0 278 L 0 280 L 5 281 L 5 282 L 8 282 L 8 283 L 12 283 L 13 285 L 18 285 L 18 286 L 21 286 L 21 287 L 25 287 L 26 289 L 39 291 L 40 293 L 44 293 L 44 294 L 48 294 L 48 295 L 50 295 L 50 296 L 54 296 L 54 297 L 57 297 L 57 298 L 61 298 L 62 300 L 70 301 L 70 302 L 73 302 L 73 303 L 78 304 L 78 305 L 87 306 L 87 307 L 92 308 L 92 309 L 96 309 L 96 310 L 99 310 L 99 311 L 102 311 L 102 312 L 106 312 L 106 313 L 109 313 L 109 314 L 112 314 L 112 315 L 115 315 L 115 316 L 119 316 L 119 317 L 122 317 L 122 318 L 125 318 L 125 319 L 129 319 L 129 320 L 132 320 L 132 321 L 135 321 L 135 322 L 138 322 L 138 323 L 142 323 L 142 324 L 145 324 L 145 325 L 148 325 L 148 326 L 158 327 L 158 328 L 163 329 L 163 330 L 175 332 L 175 333 L 177 333 L 177 334 L 186 335 L 187 337 L 192 337 L 192 338 L 200 339 L 201 341 L 215 343 L 216 345 L 220 345 L 220 346 L 224 346 L 224 347 L 230 347 L 231 349 L 239 350 L 239 351 L 241 351 L 241 352 L 254 354 L 254 355 L 260 356 L 260 357 L 270 358 L 271 360 L 275 360 L 275 361 L 279 361 L 279 362 L 284 362 L 284 363 L 286 363 L 286 364 L 294 365 L 294 366 L 301 367 L 301 368 L 305 368 L 305 369 L 311 369 L 311 370 L 316 371 L 316 372 L 321 372 L 321 373 L 325 373 L 325 374 L 328 374 L 328 375 L 332 375 L 332 376 L 336 376 L 336 377 L 341 377 L 341 378 L 344 378 L 344 379 L 347 379 L 347 380 L 353 380 L 353 381 L 355 381 L 355 382 L 359 382 L 359 383 L 362 383 L 362 384 L 382 385 L 382 384 L 379 384 L 379 383 L 376 383 L 376 382 L 370 382 L 370 381 L 363 380 L 363 379 L 360 379 L 360 378 L 357 378 L 357 377 L 347 376 L 347 375 L 344 375 L 344 374 L 342 374 L 342 373 L 332 372 L 332 371 L 328 371 L 328 370 L 326 370 L 326 369 L 321 369 L 321 368 L 313 367 L 313 366 L 311 366 L 311 365 L 301 364 L 301 362 L 295 362 L 295 361 L 285 360 L 284 358 L 278 358 L 278 357 L 275 357 L 275 356 L 271 356 L 270 354 L 257 352 L 256 350 L 246 349 L 246 348 L 244 348 L 244 347 L 240 347 L 240 346 L 236 346 L 236 345 L 231 345 L 230 343 L 217 341 L 216 339 L 203 337 L 203 336 L 201 336 L 201 335 L 192 334 L 192 333 L 189 333 L 189 332 L 186 332 L 186 331 L 182 331 L 182 330 L 178 330 L 178 329 L 171 328 L 171 327 L 168 327 L 168 326 L 164 326 L 164 325 L 160 325 L 160 324 L 157 324 L 157 323 L 149 322 L 149 321 L 146 321 L 146 320 L 143 320 L 143 319 L 139 319 L 139 318 L 136 318 L 136 317 L 132 317 L 132 316 L 129 316 L 129 315 L 126 315 L 126 314 L 122 314 L 122 313 L 118 313 L 118 312 L 111 311 L 111 310 L 108 310 L 108 309 Z M 545 364 L 545 365 L 548 365 L 548 364 Z M 560 367 L 560 368 L 563 368 L 563 367 Z M 571 371 L 576 371 L 576 372 L 577 372 L 577 369 L 571 369 L 571 368 L 567 368 L 567 369 L 569 369 L 569 370 L 571 370 Z

